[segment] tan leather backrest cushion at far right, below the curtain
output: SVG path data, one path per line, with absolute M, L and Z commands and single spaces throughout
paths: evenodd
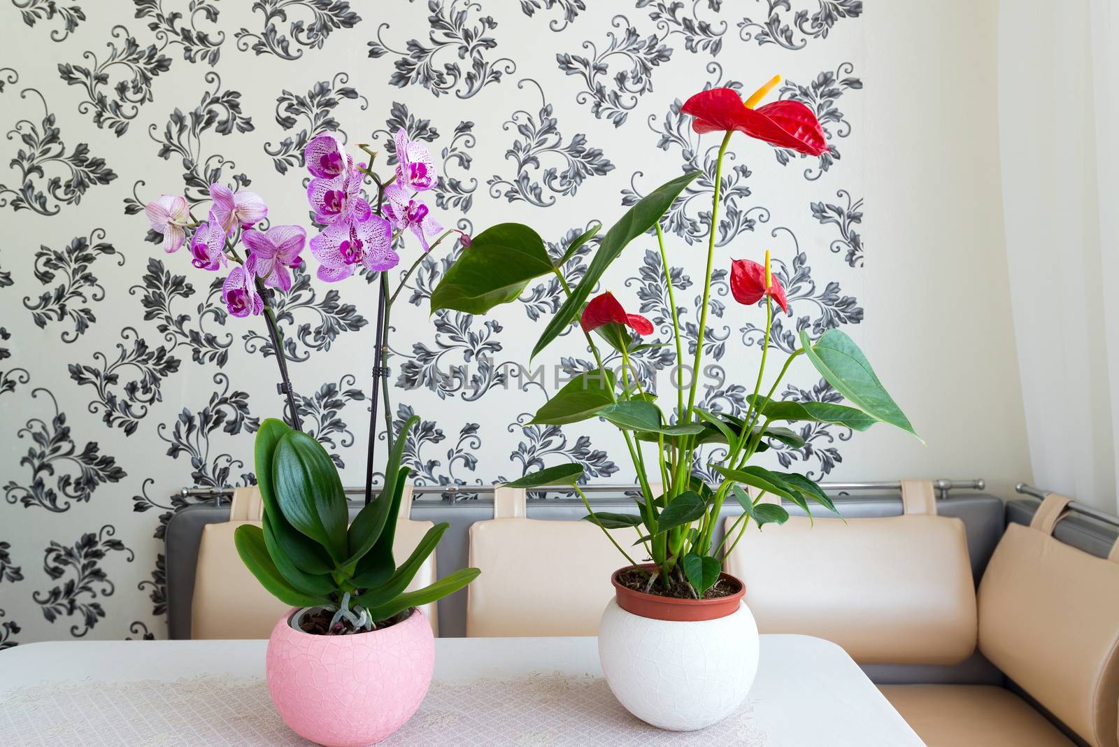
M 1096 747 L 1117 747 L 1119 550 L 1097 558 L 1051 536 L 1069 499 L 1010 524 L 979 584 L 979 650 Z

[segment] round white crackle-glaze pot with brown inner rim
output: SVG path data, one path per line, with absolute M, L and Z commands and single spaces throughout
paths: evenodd
M 758 625 L 744 587 L 722 599 L 668 599 L 618 583 L 599 623 L 599 659 L 626 709 L 661 729 L 717 724 L 746 699 L 758 673 Z

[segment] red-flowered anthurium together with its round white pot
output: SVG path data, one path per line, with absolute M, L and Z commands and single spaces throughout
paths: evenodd
M 585 519 L 600 527 L 626 559 L 612 583 L 615 598 L 608 605 L 599 631 L 602 668 L 618 699 L 639 718 L 667 729 L 697 729 L 730 715 L 746 697 L 758 665 L 758 628 L 743 603 L 743 583 L 722 566 L 753 522 L 780 524 L 789 513 L 788 501 L 808 512 L 812 504 L 835 511 L 831 500 L 811 480 L 794 472 L 777 472 L 755 464 L 755 457 L 783 443 L 803 441 L 780 424 L 836 423 L 865 431 L 883 422 L 913 433 L 909 419 L 875 376 L 866 357 L 847 334 L 829 329 L 817 340 L 800 331 L 800 348 L 788 356 L 772 382 L 763 388 L 769 368 L 770 329 L 774 306 L 788 312 L 780 281 L 773 275 L 770 253 L 764 262 L 730 261 L 730 286 L 736 302 L 747 309 L 762 305 L 765 339 L 752 395 L 744 412 L 722 413 L 696 401 L 703 370 L 704 333 L 711 312 L 723 160 L 731 138 L 742 132 L 779 148 L 819 155 L 827 152 L 826 136 L 812 111 L 794 101 L 759 106 L 780 82 L 774 77 L 743 101 L 732 88 L 713 88 L 692 96 L 683 106 L 697 133 L 720 133 L 722 141 L 714 174 L 703 303 L 690 357 L 685 356 L 668 252 L 660 221 L 698 172 L 684 173 L 640 199 L 599 242 L 582 278 L 568 284 L 564 265 L 592 239 L 601 226 L 574 239 L 558 262 L 528 226 L 501 224 L 473 237 L 444 274 L 431 296 L 432 312 L 455 309 L 483 314 L 517 299 L 539 276 L 555 275 L 566 299 L 545 327 L 533 349 L 535 357 L 556 338 L 579 325 L 594 357 L 594 367 L 568 381 L 535 414 L 533 423 L 564 425 L 604 418 L 617 426 L 633 463 L 640 494 L 634 513 L 595 511 L 580 488 L 579 464 L 552 466 L 509 483 L 518 488 L 564 485 L 586 504 Z M 648 347 L 643 338 L 652 323 L 628 313 L 609 290 L 598 295 L 603 273 L 632 240 L 653 233 L 660 250 L 661 282 L 671 305 L 675 349 L 675 396 L 659 396 L 642 382 L 633 356 Z M 593 297 L 592 297 L 593 295 Z M 803 356 L 850 406 L 819 401 L 774 399 L 790 363 Z M 684 370 L 690 366 L 690 382 Z M 667 410 L 667 413 L 666 413 Z M 704 469 L 707 467 L 707 469 Z M 708 476 L 705 476 L 708 475 Z M 714 475 L 714 477 L 709 476 Z M 716 526 L 727 501 L 742 514 L 722 539 Z M 773 502 L 775 501 L 775 502 Z M 632 528 L 636 541 L 622 539 Z M 622 542 L 630 545 L 629 549 Z M 636 641 L 656 640 L 659 646 L 633 656 Z M 666 693 L 665 683 L 673 683 Z

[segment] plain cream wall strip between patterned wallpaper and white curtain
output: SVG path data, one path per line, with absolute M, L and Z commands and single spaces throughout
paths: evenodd
M 1032 479 L 1010 316 L 995 0 L 868 8 L 859 344 L 928 442 L 875 427 L 844 474 Z

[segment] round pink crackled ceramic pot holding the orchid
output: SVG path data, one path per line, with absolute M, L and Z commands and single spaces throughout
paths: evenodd
M 379 741 L 412 718 L 435 663 L 431 625 L 419 609 L 383 631 L 311 635 L 291 609 L 269 639 L 267 680 L 283 720 L 328 747 Z

